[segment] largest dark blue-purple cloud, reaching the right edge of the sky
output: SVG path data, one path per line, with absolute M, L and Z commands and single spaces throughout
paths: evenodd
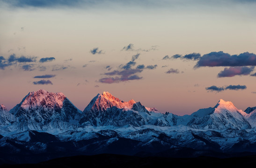
M 223 51 L 211 52 L 200 57 L 195 68 L 215 66 L 256 66 L 256 55 L 244 52 L 239 55 L 230 55 Z

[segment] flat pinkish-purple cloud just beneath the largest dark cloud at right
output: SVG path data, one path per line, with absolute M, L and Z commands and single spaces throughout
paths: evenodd
M 234 77 L 235 75 L 249 75 L 254 70 L 252 67 L 229 67 L 220 71 L 218 77 Z

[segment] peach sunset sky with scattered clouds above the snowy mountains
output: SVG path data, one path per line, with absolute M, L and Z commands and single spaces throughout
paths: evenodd
M 256 106 L 256 0 L 0 0 L 0 104 L 103 91 L 185 115 Z

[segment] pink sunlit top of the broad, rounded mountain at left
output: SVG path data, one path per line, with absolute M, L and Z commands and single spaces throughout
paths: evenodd
M 29 94 L 22 100 L 21 107 L 24 109 L 35 108 L 38 106 L 63 106 L 63 101 L 66 96 L 59 93 L 52 93 L 45 90 L 31 91 Z

